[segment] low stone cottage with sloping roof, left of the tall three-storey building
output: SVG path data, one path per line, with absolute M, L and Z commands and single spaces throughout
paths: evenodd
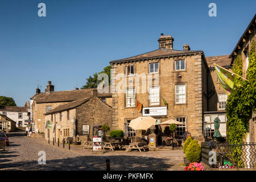
M 57 106 L 44 115 L 45 122 L 51 123 L 50 127 L 46 126 L 45 138 L 51 141 L 53 138 L 63 141 L 63 138 L 76 138 L 77 135 L 80 139 L 88 140 L 89 137 L 92 140 L 93 126 L 112 127 L 112 107 L 96 96 Z M 89 126 L 89 133 L 84 130 L 85 126 Z

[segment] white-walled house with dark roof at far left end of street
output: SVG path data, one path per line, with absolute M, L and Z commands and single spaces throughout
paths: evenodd
M 16 127 L 26 127 L 30 120 L 29 106 L 18 107 L 18 106 L 6 106 L 0 108 L 0 114 L 15 121 Z

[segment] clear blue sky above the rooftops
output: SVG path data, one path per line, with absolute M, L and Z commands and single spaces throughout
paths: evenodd
M 46 4 L 46 17 L 38 4 Z M 209 3 L 217 5 L 210 17 Z M 36 87 L 73 90 L 109 61 L 189 44 L 205 56 L 227 55 L 256 13 L 256 1 L 0 0 L 0 96 L 23 106 Z

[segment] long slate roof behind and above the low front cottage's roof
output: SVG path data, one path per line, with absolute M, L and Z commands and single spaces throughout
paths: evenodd
M 97 93 L 97 89 L 81 89 L 81 90 L 65 90 L 59 92 L 39 93 L 35 94 L 31 99 L 36 103 L 47 102 L 70 102 L 77 101 L 93 95 L 96 92 L 97 97 L 112 97 L 111 93 Z

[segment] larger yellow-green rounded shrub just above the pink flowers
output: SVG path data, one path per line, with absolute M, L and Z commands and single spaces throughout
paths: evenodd
M 201 147 L 196 139 L 193 139 L 192 142 L 189 143 L 187 150 L 185 152 L 186 158 L 190 162 L 200 162 L 201 160 Z

